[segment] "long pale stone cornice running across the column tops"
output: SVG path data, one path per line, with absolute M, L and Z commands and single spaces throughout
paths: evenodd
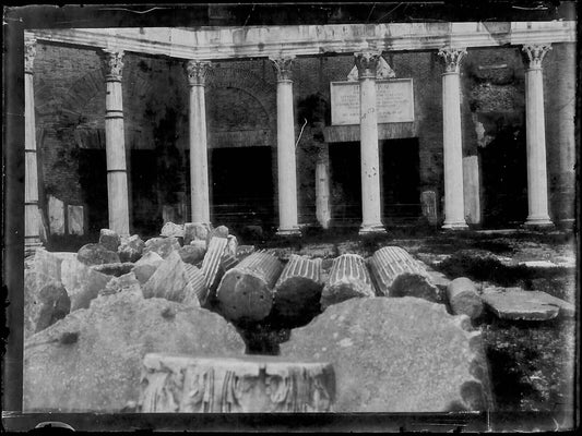
M 383 23 L 250 27 L 119 27 L 35 29 L 39 43 L 70 44 L 178 59 L 433 50 L 575 41 L 574 21 L 511 23 Z

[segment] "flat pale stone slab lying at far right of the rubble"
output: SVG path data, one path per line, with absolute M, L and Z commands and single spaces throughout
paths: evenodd
M 487 288 L 482 299 L 498 318 L 546 320 L 561 314 L 574 316 L 575 308 L 556 296 L 542 291 L 525 291 L 521 288 Z

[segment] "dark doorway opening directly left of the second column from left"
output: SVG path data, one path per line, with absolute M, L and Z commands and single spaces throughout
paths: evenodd
M 87 237 L 96 240 L 100 229 L 109 228 L 105 149 L 79 149 L 79 183 L 87 206 Z

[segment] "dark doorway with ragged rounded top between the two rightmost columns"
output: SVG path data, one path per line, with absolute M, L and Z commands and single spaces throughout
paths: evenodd
M 527 217 L 525 134 L 520 128 L 502 126 L 479 153 L 484 227 L 522 225 Z

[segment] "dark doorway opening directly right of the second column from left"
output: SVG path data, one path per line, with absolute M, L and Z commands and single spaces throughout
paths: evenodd
M 134 233 L 154 235 L 163 226 L 156 182 L 156 152 L 132 149 L 131 194 Z

